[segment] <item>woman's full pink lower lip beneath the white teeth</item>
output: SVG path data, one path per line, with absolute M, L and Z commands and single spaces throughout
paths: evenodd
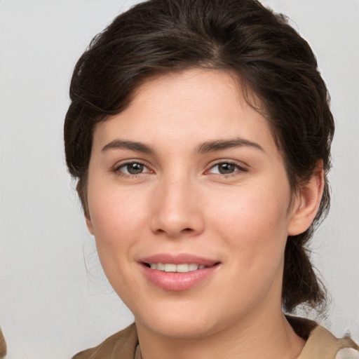
M 219 265 L 210 266 L 208 268 L 197 269 L 196 271 L 189 271 L 186 273 L 178 272 L 165 272 L 151 269 L 148 266 L 142 264 L 145 276 L 156 287 L 160 287 L 164 290 L 180 291 L 189 290 L 192 287 L 202 283 L 208 279 L 215 271 L 217 271 Z

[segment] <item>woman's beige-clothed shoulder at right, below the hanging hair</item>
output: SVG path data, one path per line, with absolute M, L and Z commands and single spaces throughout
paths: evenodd
M 292 325 L 292 318 L 287 319 Z M 359 347 L 350 337 L 336 338 L 325 327 L 311 320 L 301 319 L 298 322 L 294 319 L 294 322 L 304 328 L 300 336 L 307 339 L 297 359 L 359 359 Z M 298 334 L 298 327 L 292 327 Z M 306 330 L 308 332 L 304 333 Z

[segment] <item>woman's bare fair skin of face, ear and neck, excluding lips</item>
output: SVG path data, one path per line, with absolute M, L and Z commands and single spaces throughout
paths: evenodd
M 140 163 L 136 175 L 129 161 Z M 297 358 L 304 340 L 281 309 L 285 243 L 309 227 L 322 191 L 318 168 L 292 193 L 266 119 L 228 72 L 151 79 L 125 111 L 98 123 L 86 222 L 135 316 L 142 357 Z M 163 252 L 219 264 L 189 290 L 164 290 L 139 263 Z

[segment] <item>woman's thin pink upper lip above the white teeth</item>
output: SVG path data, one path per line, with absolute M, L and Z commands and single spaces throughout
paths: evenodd
M 149 257 L 142 257 L 141 263 L 172 263 L 172 264 L 198 264 L 203 266 L 213 266 L 219 263 L 218 260 L 200 257 L 198 255 L 191 255 L 189 253 L 158 253 L 156 255 L 150 255 Z

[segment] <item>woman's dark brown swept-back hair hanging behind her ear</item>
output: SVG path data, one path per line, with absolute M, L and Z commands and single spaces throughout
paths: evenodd
M 79 179 L 85 214 L 96 123 L 126 109 L 148 77 L 190 68 L 229 70 L 244 94 L 248 89 L 255 95 L 292 191 L 323 161 L 324 193 L 316 218 L 304 233 L 287 238 L 282 291 L 285 311 L 299 304 L 323 308 L 325 289 L 311 265 L 308 244 L 330 207 L 330 97 L 309 44 L 285 16 L 259 1 L 149 0 L 118 15 L 95 36 L 74 68 L 65 118 L 67 166 Z

